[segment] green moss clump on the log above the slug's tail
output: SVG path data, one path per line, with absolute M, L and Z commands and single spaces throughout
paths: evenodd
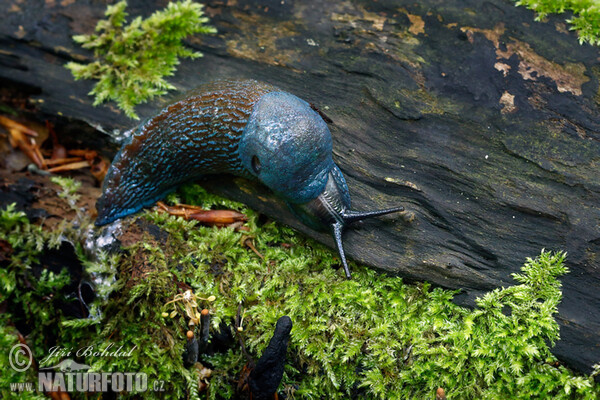
M 94 105 L 114 100 L 130 118 L 138 119 L 134 107 L 175 89 L 164 77 L 175 72 L 179 57 L 197 58 L 202 53 L 186 48 L 182 39 L 196 33 L 215 33 L 205 25 L 203 5 L 191 0 L 169 3 L 149 18 L 137 17 L 124 26 L 126 1 L 106 10 L 107 19 L 96 25 L 96 34 L 73 39 L 93 50 L 89 64 L 67 63 L 75 79 L 98 80 L 90 95 Z

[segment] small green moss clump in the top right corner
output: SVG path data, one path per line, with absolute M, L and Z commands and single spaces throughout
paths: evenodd
M 577 31 L 579 43 L 600 44 L 600 4 L 596 0 L 518 0 L 518 6 L 525 6 L 537 13 L 536 21 L 548 14 L 562 14 L 572 11 L 574 17 L 568 19 L 571 30 Z

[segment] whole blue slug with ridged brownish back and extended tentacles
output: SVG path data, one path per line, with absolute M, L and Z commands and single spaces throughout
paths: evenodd
M 351 211 L 331 151 L 327 124 L 304 100 L 254 80 L 207 84 L 133 130 L 104 180 L 96 225 L 150 206 L 184 182 L 234 174 L 265 184 L 305 225 L 331 231 L 350 278 L 343 228 L 403 208 Z

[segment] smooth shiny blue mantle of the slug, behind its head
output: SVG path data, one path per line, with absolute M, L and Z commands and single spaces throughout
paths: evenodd
M 325 121 L 285 92 L 267 93 L 255 104 L 238 151 L 250 174 L 294 204 L 323 192 L 334 165 Z

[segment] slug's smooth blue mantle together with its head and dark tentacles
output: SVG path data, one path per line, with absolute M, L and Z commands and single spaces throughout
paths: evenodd
M 238 151 L 246 170 L 286 200 L 305 225 L 332 233 L 348 278 L 344 228 L 354 221 L 404 210 L 350 210 L 348 186 L 331 157 L 329 128 L 307 102 L 292 94 L 271 92 L 260 98 Z

